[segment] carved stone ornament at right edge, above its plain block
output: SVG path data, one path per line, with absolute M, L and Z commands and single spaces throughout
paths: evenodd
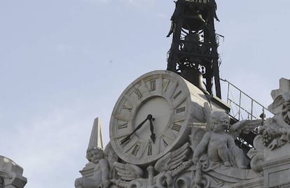
M 269 160 L 289 156 L 290 80 L 281 78 L 279 89 L 272 90 L 271 96 L 273 102 L 268 106 L 268 110 L 274 116 L 266 119 L 264 126 L 258 129 L 259 135 L 254 138 L 254 148 L 248 152 L 251 168 L 256 172 L 263 171 L 263 166 Z M 278 161 L 277 159 L 277 164 Z

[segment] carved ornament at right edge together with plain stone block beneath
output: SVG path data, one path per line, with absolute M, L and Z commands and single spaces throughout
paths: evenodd
M 268 110 L 274 114 L 265 120 L 249 150 L 251 168 L 263 173 L 263 187 L 290 186 L 290 80 L 281 78 L 279 89 L 271 92 Z

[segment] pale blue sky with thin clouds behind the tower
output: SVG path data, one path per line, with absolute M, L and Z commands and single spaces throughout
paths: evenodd
M 289 79 L 290 1 L 217 0 L 221 78 L 270 105 Z M 0 154 L 27 188 L 74 187 L 95 117 L 133 80 L 165 69 L 172 0 L 1 0 Z

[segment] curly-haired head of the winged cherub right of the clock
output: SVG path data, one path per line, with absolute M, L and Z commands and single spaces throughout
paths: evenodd
M 212 131 L 219 133 L 227 130 L 230 126 L 230 117 L 220 111 L 215 111 L 212 113 L 211 117 L 211 128 Z

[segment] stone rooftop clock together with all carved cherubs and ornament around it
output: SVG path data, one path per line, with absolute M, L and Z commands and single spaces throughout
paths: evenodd
M 76 179 L 75 186 L 290 185 L 286 178 L 290 176 L 290 89 L 285 85 L 289 80 L 282 78 L 280 89 L 272 92 L 269 109 L 274 117 L 230 124 L 228 107 L 184 78 L 169 71 L 146 73 L 121 94 L 111 116 L 111 141 L 104 151 L 88 149 L 94 168 Z M 259 134 L 246 154 L 235 145 L 235 138 L 257 128 Z

